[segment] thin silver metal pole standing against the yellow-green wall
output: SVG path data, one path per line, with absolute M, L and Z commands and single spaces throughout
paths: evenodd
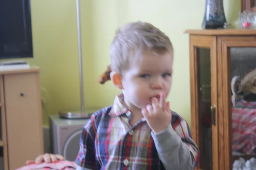
M 81 49 L 81 30 L 80 30 L 80 1 L 77 0 L 77 39 L 78 39 L 78 58 L 80 72 L 80 97 L 81 97 L 81 113 L 84 113 L 84 86 L 83 86 L 83 64 Z

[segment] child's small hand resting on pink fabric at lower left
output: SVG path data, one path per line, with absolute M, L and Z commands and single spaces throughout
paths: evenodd
M 45 153 L 44 155 L 39 155 L 38 157 L 36 157 L 35 160 L 27 160 L 26 164 L 27 165 L 32 164 L 32 163 L 39 164 L 39 163 L 43 163 L 43 162 L 52 163 L 52 162 L 56 162 L 59 160 L 63 161 L 63 160 L 65 160 L 65 158 L 61 155 Z

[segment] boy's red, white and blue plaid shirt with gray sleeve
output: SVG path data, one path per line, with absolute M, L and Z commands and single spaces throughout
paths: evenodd
M 177 113 L 172 112 L 169 127 L 159 134 L 145 118 L 131 126 L 131 116 L 122 94 L 112 106 L 95 112 L 82 129 L 78 169 L 194 169 L 199 151 L 187 122 Z

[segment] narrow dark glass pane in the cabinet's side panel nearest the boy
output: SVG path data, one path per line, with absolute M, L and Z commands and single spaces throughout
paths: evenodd
M 212 120 L 211 120 L 211 50 L 197 48 L 198 60 L 198 103 L 200 167 L 202 170 L 213 169 Z

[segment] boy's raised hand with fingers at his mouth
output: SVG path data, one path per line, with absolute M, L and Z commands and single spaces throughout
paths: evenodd
M 165 102 L 164 93 L 160 94 L 159 103 L 157 98 L 153 97 L 152 105 L 147 105 L 141 112 L 145 117 L 147 124 L 155 134 L 165 130 L 172 119 L 169 102 Z

